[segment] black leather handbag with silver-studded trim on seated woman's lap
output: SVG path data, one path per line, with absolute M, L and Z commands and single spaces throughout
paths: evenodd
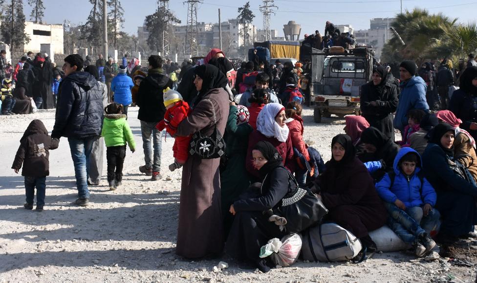
M 286 168 L 283 170 L 286 170 L 289 182 L 294 182 L 296 189 L 282 199 L 282 205 L 278 207 L 277 214 L 286 219 L 287 232 L 299 233 L 320 223 L 328 210 L 320 198 L 308 188 L 300 188 L 295 177 Z

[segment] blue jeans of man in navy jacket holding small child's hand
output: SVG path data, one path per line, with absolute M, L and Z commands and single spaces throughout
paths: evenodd
M 93 149 L 93 143 L 99 139 L 99 136 L 86 138 L 68 138 L 69 149 L 71 150 L 71 158 L 75 167 L 76 186 L 78 188 L 79 198 L 89 198 L 88 190 L 88 171 L 89 171 L 89 155 Z

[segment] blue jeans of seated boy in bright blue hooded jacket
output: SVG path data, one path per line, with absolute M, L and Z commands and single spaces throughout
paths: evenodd
M 423 217 L 422 208 L 419 206 L 406 207 L 404 211 L 394 203 L 385 202 L 384 205 L 389 213 L 388 225 L 407 244 L 417 242 L 417 238 L 424 233 L 430 235 L 431 231 L 439 229 L 440 214 L 435 208 Z

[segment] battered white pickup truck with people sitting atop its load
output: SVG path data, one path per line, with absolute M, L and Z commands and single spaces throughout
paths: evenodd
M 373 55 L 369 47 L 312 49 L 310 94 L 316 123 L 331 114 L 361 114 L 361 86 L 371 81 Z

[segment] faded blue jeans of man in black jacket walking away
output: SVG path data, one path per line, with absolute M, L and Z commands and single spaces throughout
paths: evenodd
M 146 162 L 146 168 L 152 168 L 152 172 L 161 171 L 162 131 L 158 131 L 155 128 L 156 124 L 156 122 L 141 121 L 144 161 Z M 154 148 L 154 156 L 152 156 L 151 139 Z

